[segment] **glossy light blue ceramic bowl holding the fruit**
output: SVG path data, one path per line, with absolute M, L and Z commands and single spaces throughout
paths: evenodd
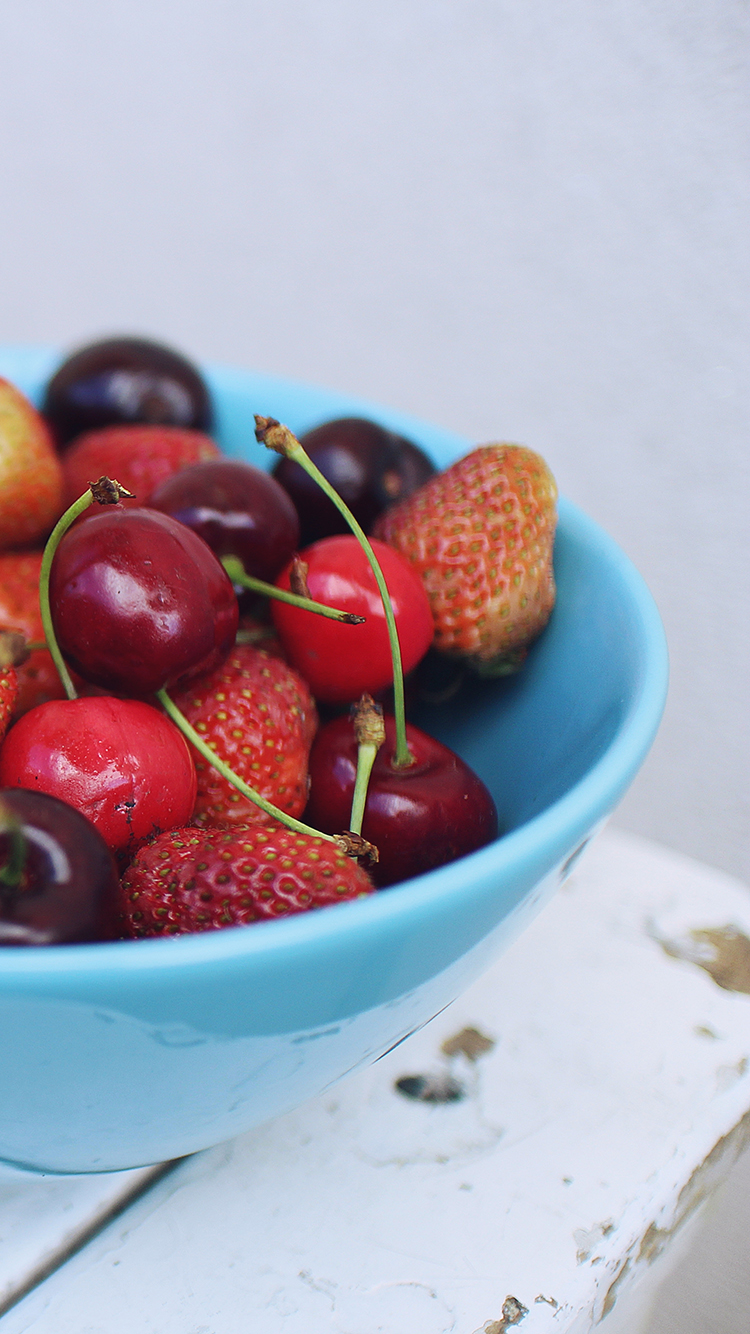
M 39 399 L 53 351 L 0 354 Z M 359 414 L 446 464 L 470 442 L 370 403 L 208 368 L 222 444 L 254 412 Z M 662 626 L 618 547 L 567 502 L 558 606 L 527 666 L 420 722 L 491 788 L 508 832 L 367 900 L 207 935 L 0 950 L 0 1158 L 103 1171 L 215 1145 L 366 1066 L 452 1000 L 539 911 L 641 766 L 666 694 Z

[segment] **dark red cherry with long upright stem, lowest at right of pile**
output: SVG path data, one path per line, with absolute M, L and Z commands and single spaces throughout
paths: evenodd
M 454 751 L 407 723 L 415 763 L 394 768 L 395 722 L 375 758 L 362 834 L 380 854 L 370 874 L 380 887 L 455 862 L 498 835 L 495 803 L 484 783 Z M 310 802 L 304 819 L 324 834 L 348 827 L 356 776 L 351 719 L 320 728 L 310 755 Z

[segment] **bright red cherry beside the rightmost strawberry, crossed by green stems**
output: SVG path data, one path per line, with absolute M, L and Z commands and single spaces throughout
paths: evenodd
M 374 542 L 372 548 L 391 594 L 403 670 L 408 672 L 432 642 L 427 594 L 398 551 L 383 542 Z M 306 547 L 300 559 L 308 567 L 307 584 L 315 602 L 352 611 L 366 622 L 344 626 L 274 602 L 274 624 L 292 667 L 319 700 L 346 703 L 364 691 L 376 695 L 391 684 L 394 670 L 383 602 L 364 551 L 354 536 L 323 538 Z M 280 588 L 290 587 L 290 567 L 276 583 Z

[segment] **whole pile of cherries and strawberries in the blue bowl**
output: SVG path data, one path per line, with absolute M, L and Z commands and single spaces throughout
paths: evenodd
M 200 374 L 140 339 L 68 358 L 40 411 L 0 380 L 0 944 L 247 924 L 496 836 L 404 676 L 522 664 L 555 596 L 544 462 L 435 474 L 372 422 L 258 416 L 270 475 L 211 428 Z

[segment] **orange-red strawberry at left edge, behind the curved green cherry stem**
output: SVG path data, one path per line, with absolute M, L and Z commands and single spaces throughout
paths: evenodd
M 43 640 L 39 611 L 39 571 L 41 551 L 0 554 L 0 630 L 17 630 L 29 640 Z M 48 699 L 63 699 L 65 691 L 47 648 L 36 648 L 16 667 L 19 699 L 16 716 Z

